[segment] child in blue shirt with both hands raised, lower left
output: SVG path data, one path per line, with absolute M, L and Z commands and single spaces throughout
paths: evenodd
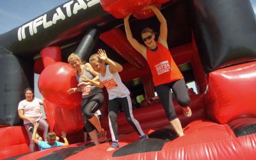
M 62 138 L 64 139 L 65 143 L 56 141 L 56 134 L 54 132 L 49 132 L 47 134 L 47 141 L 41 141 L 36 138 L 36 130 L 38 129 L 39 124 L 36 122 L 34 124 L 34 131 L 32 135 L 32 141 L 38 144 L 39 150 L 45 150 L 48 148 L 54 147 L 61 147 L 61 146 L 68 146 L 68 140 L 66 138 L 66 132 L 61 132 Z

